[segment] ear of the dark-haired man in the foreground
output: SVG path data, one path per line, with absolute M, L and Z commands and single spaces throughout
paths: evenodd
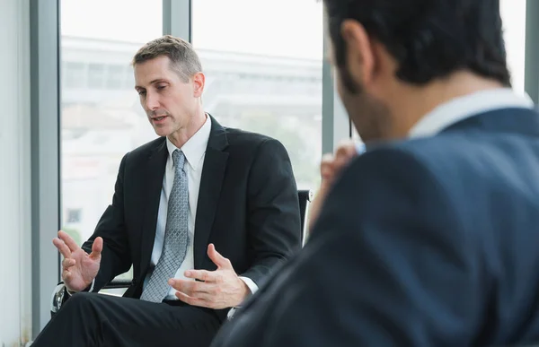
M 346 44 L 346 65 L 350 77 L 367 86 L 375 77 L 376 56 L 365 27 L 355 20 L 345 20 L 340 34 Z

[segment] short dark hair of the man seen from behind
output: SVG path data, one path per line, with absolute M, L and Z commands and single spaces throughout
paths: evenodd
M 336 65 L 346 63 L 340 26 L 361 23 L 399 64 L 397 77 L 424 84 L 469 70 L 510 86 L 499 0 L 324 0 Z

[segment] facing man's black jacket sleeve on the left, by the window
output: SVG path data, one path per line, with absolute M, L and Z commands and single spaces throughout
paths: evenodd
M 124 222 L 124 178 L 126 154 L 119 164 L 118 178 L 114 186 L 112 204 L 110 204 L 102 218 L 97 223 L 93 235 L 83 244 L 83 249 L 91 253 L 93 240 L 97 237 L 103 239 L 102 260 L 99 273 L 95 277 L 93 291 L 100 291 L 119 273 L 125 273 L 131 266 L 131 256 L 128 248 L 128 237 Z

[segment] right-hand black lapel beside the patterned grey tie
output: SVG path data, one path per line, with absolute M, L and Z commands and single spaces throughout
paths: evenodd
M 199 269 L 208 251 L 208 239 L 216 216 L 217 205 L 221 195 L 221 187 L 225 178 L 228 153 L 223 152 L 228 145 L 223 126 L 211 118 L 211 133 L 208 148 L 204 157 L 204 166 L 200 178 L 199 202 L 195 220 L 195 240 L 193 255 L 195 269 Z

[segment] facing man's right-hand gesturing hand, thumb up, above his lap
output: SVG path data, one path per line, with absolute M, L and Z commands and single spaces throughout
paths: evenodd
M 216 271 L 188 270 L 185 277 L 204 281 L 170 279 L 176 297 L 193 306 L 204 308 L 232 308 L 243 302 L 250 293 L 249 288 L 234 272 L 230 260 L 221 256 L 213 244 L 208 246 L 208 256 Z

